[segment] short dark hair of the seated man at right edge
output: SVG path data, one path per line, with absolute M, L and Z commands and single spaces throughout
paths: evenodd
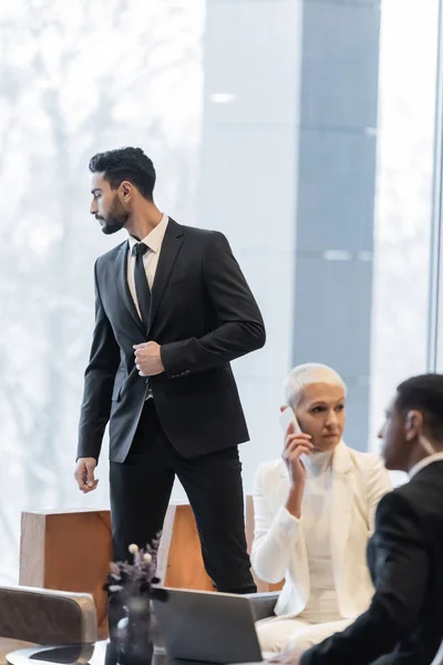
M 406 412 L 421 411 L 429 432 L 443 443 L 443 375 L 412 377 L 396 389 L 396 408 Z

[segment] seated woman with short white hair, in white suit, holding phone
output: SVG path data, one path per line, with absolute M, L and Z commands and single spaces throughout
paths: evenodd
M 296 367 L 285 382 L 296 420 L 282 459 L 261 464 L 254 488 L 253 566 L 265 582 L 286 580 L 277 616 L 256 624 L 262 651 L 321 642 L 351 624 L 373 594 L 365 549 L 391 484 L 379 456 L 341 439 L 346 391 L 324 365 Z

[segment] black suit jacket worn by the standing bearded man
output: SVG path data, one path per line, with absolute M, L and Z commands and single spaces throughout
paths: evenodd
M 123 462 L 146 398 L 134 344 L 161 345 L 165 372 L 150 379 L 171 443 L 185 457 L 248 440 L 230 360 L 265 344 L 258 306 L 225 236 L 169 218 L 146 331 L 127 286 L 127 241 L 95 264 L 95 329 L 78 457 L 99 459 L 110 420 L 110 459 Z

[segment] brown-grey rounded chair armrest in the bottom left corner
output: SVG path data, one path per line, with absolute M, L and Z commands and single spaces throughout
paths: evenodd
M 37 644 L 96 640 L 92 595 L 33 586 L 0 586 L 0 635 Z

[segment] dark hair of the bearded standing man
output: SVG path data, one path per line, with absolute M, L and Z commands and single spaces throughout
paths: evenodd
M 112 190 L 120 187 L 123 181 L 128 181 L 142 196 L 153 201 L 155 168 L 141 147 L 119 147 L 97 153 L 90 160 L 90 171 L 103 173 Z

